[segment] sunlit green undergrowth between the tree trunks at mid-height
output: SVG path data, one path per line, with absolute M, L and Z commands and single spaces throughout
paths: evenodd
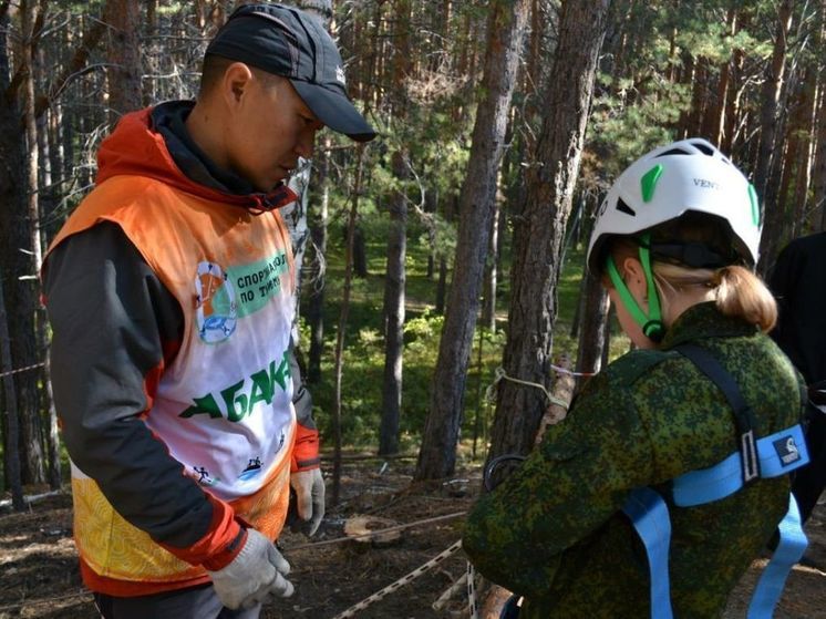
M 371 218 L 380 218 L 373 215 Z M 376 230 L 378 225 L 366 226 Z M 375 448 L 379 443 L 381 422 L 382 383 L 384 373 L 384 341 L 382 336 L 383 238 L 368 236 L 368 262 L 371 272 L 368 278 L 353 281 L 352 300 L 349 312 L 348 333 L 343 355 L 342 376 L 342 432 L 348 446 Z M 435 281 L 424 272 L 427 247 L 413 244 L 409 248 L 406 320 L 404 322 L 404 370 L 402 393 L 402 416 L 400 420 L 401 450 L 415 451 L 421 440 L 425 419 L 430 409 L 431 384 L 436 365 L 444 317 L 433 310 Z M 334 406 L 334 360 L 335 329 L 340 306 L 340 287 L 343 280 L 343 251 L 339 245 L 330 248 L 328 260 L 328 296 L 326 307 L 326 355 L 322 360 L 322 380 L 310 386 L 313 395 L 314 415 L 326 444 L 331 444 L 332 412 Z M 584 248 L 571 249 L 566 258 L 557 290 L 559 317 L 554 330 L 555 355 L 566 353 L 576 358 L 578 342 L 570 337 L 570 326 L 579 300 L 582 275 Z M 375 271 L 373 270 L 375 268 Z M 503 291 L 507 293 L 509 283 L 503 278 Z M 507 299 L 499 300 L 499 309 Z M 307 324 L 300 324 L 302 341 L 309 341 Z M 615 332 L 618 330 L 615 328 Z M 474 434 L 476 417 L 479 416 L 479 447 L 477 456 L 485 453 L 486 433 L 493 421 L 493 409 L 485 401 L 485 392 L 493 383 L 495 370 L 502 364 L 505 347 L 504 330 L 491 333 L 476 332 L 471 353 L 471 364 L 465 382 L 465 405 L 462 437 L 467 443 Z M 482 363 L 478 363 L 479 345 Z M 617 357 L 628 350 L 628 340 L 613 337 L 611 355 Z

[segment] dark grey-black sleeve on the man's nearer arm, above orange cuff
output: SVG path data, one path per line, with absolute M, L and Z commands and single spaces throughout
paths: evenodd
M 72 462 L 132 525 L 190 546 L 208 533 L 213 506 L 142 420 L 180 342 L 177 300 L 110 223 L 58 245 L 42 278 L 54 402 Z

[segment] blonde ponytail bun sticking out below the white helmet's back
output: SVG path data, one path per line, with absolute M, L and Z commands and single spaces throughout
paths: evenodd
M 777 322 L 777 303 L 760 279 L 745 267 L 729 266 L 714 271 L 717 309 L 724 316 L 742 318 L 765 333 Z

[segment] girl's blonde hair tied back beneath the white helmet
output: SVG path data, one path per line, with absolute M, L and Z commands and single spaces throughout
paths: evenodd
M 610 251 L 617 265 L 626 258 L 639 259 L 639 245 L 628 238 L 615 238 Z M 777 302 L 763 280 L 746 267 L 696 269 L 652 260 L 651 269 L 663 314 L 668 313 L 670 299 L 682 293 L 684 288 L 705 287 L 711 292 L 710 300 L 713 299 L 723 316 L 740 318 L 763 332 L 771 331 L 777 322 Z

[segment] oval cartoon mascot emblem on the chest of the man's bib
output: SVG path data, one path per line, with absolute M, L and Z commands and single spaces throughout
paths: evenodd
M 199 262 L 195 276 L 195 320 L 206 343 L 223 342 L 238 323 L 235 288 L 215 262 Z

